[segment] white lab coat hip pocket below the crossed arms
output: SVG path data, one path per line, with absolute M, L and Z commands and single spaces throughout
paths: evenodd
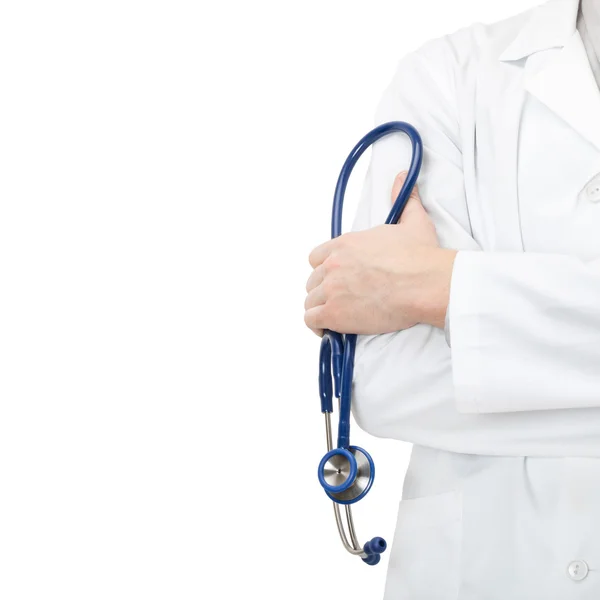
M 384 600 L 456 600 L 462 491 L 400 501 Z

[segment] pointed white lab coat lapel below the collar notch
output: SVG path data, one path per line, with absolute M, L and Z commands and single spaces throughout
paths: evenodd
M 600 91 L 579 32 L 575 30 L 539 69 L 525 66 L 524 87 L 600 150 Z

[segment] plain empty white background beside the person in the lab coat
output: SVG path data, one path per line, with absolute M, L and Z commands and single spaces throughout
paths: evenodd
M 534 4 L 2 3 L 2 600 L 382 597 L 316 478 L 308 253 L 397 61 Z M 391 542 L 410 447 L 353 442 Z

